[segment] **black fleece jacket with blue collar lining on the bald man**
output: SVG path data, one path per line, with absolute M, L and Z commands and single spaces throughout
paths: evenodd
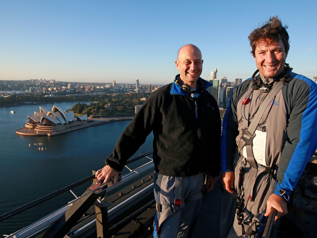
M 219 175 L 219 109 L 214 97 L 205 90 L 211 84 L 202 78 L 198 80 L 204 83 L 204 89 L 197 92 L 198 98 L 191 98 L 175 83 L 152 92 L 120 136 L 106 164 L 121 171 L 153 131 L 157 173 L 190 176 L 209 170 L 210 175 Z

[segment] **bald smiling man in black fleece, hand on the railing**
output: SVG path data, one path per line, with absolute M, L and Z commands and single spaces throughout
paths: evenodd
M 187 237 L 195 223 L 206 176 L 211 191 L 220 172 L 221 120 L 216 100 L 200 78 L 203 60 L 197 46 L 178 51 L 173 83 L 152 92 L 126 127 L 98 181 L 113 178 L 153 131 L 154 237 Z

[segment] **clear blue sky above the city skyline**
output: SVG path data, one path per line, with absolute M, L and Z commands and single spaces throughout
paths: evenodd
M 294 72 L 317 76 L 317 1 L 1 1 L 0 80 L 167 84 L 187 43 L 201 77 L 249 78 L 249 33 L 278 15 Z

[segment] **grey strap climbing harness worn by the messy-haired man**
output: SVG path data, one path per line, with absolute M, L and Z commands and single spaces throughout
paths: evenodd
M 270 107 L 269 104 L 272 101 L 272 99 L 275 98 L 277 93 L 283 88 L 285 85 L 285 79 L 288 77 L 288 71 L 291 70 L 291 68 L 288 66 L 288 64 L 285 66 L 285 71 L 287 71 L 287 74 L 283 78 L 281 78 L 274 86 L 272 85 L 264 85 L 266 89 L 262 89 L 261 85 L 257 84 L 257 80 L 254 80 L 256 73 L 259 71 L 257 70 L 253 76 L 252 80 L 249 84 L 248 91 L 246 93 L 247 97 L 243 100 L 243 110 L 244 115 L 247 115 L 243 117 L 243 130 L 242 130 L 242 136 L 240 138 L 239 144 L 238 144 L 238 153 L 241 157 L 240 162 L 240 168 L 239 168 L 239 180 L 238 180 L 238 194 L 237 194 L 237 209 L 236 209 L 236 218 L 238 220 L 238 225 L 241 225 L 242 234 L 241 237 L 250 237 L 252 235 L 257 234 L 257 228 L 261 226 L 261 222 L 263 219 L 263 214 L 258 213 L 256 215 L 252 215 L 247 209 L 247 203 L 248 201 L 254 201 L 253 197 L 253 188 L 256 182 L 256 177 L 258 173 L 259 166 L 264 167 L 267 174 L 271 175 L 276 180 L 276 174 L 278 170 L 278 165 L 273 166 L 272 168 L 268 166 L 263 166 L 259 164 L 255 156 L 253 154 L 253 139 L 256 136 L 255 132 L 257 127 L 259 126 L 259 122 L 262 118 L 262 116 L 267 112 L 269 112 Z M 284 72 L 283 72 L 284 73 Z M 276 80 L 275 80 L 276 81 Z M 265 97 L 264 101 L 261 103 L 259 109 L 257 110 L 256 114 L 254 115 L 252 122 L 249 120 L 249 110 L 250 110 L 250 102 L 252 100 L 252 92 L 253 90 L 260 89 L 261 92 L 268 93 Z M 263 128 L 264 129 L 264 128 Z M 262 129 L 262 130 L 263 130 Z M 245 147 L 246 155 L 243 156 L 243 148 Z M 245 188 L 243 189 L 243 175 L 245 172 L 245 167 L 249 163 L 250 170 L 249 170 L 249 178 L 248 183 Z M 244 191 L 244 195 L 242 196 L 242 191 Z M 246 201 L 245 201 L 246 200 Z M 249 228 L 247 232 L 245 231 L 244 224 L 249 224 Z M 257 226 L 257 227 L 256 227 Z

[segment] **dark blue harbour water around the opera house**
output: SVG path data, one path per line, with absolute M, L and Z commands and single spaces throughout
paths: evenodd
M 105 158 L 112 153 L 115 142 L 130 121 L 88 127 L 52 137 L 15 133 L 16 129 L 24 126 L 27 115 L 39 111 L 39 106 L 50 110 L 54 104 L 66 111 L 76 103 L 0 107 L 0 215 L 88 177 L 92 175 L 92 170 L 104 166 Z M 11 110 L 16 113 L 10 113 Z M 134 156 L 152 150 L 152 140 L 153 135 L 150 134 Z M 125 169 L 123 173 L 127 171 Z M 88 182 L 73 192 L 81 195 L 90 184 Z M 73 199 L 74 196 L 66 192 L 0 222 L 0 235 L 11 234 Z

